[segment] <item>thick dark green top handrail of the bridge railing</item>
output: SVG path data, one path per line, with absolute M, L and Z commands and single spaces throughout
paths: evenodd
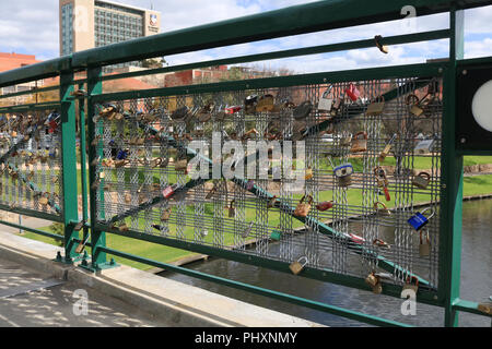
M 0 73 L 0 87 L 52 77 L 62 71 L 78 71 L 87 67 L 399 20 L 401 9 L 407 5 L 413 5 L 419 15 L 427 15 L 446 12 L 454 7 L 471 9 L 489 2 L 487 0 L 318 1 L 141 37 L 19 68 Z

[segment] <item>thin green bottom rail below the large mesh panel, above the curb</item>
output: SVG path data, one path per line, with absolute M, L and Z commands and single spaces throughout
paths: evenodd
M 191 270 L 191 269 L 187 269 L 184 267 L 179 267 L 179 266 L 174 266 L 171 264 L 166 264 L 166 263 L 162 263 L 162 262 L 157 262 L 157 261 L 152 261 L 149 258 L 144 258 L 144 257 L 140 257 L 137 255 L 132 255 L 129 253 L 124 253 L 120 251 L 116 251 L 113 249 L 108 249 L 108 248 L 99 248 L 99 250 L 106 252 L 106 253 L 110 253 L 113 255 L 116 256 L 120 256 L 124 258 L 128 258 L 128 260 L 132 260 L 136 262 L 140 262 L 140 263 L 144 263 L 148 265 L 152 265 L 154 267 L 159 267 L 159 268 L 163 268 L 169 272 L 174 272 L 174 273 L 178 273 L 178 274 L 183 274 L 183 275 L 187 275 L 187 276 L 191 276 L 201 280 L 206 280 L 206 281 L 212 281 L 214 284 L 219 284 L 219 285 L 224 285 L 234 289 L 238 289 L 238 290 L 244 290 L 247 292 L 251 292 L 251 293 L 256 293 L 256 294 L 260 294 L 260 296 L 265 296 L 271 299 L 277 299 L 280 301 L 284 301 L 288 302 L 290 304 L 297 304 L 301 306 L 305 306 L 305 308 L 309 308 L 309 309 L 314 309 L 317 311 L 321 311 L 325 313 L 329 313 L 329 314 L 333 314 L 333 315 L 338 315 L 338 316 L 343 316 L 347 318 L 351 318 L 354 321 L 359 321 L 359 322 L 363 322 L 370 325 L 375 325 L 375 326 L 387 326 L 387 327 L 411 327 L 407 324 L 402 324 L 402 323 L 398 323 L 395 321 L 390 321 L 390 320 L 385 320 L 378 316 L 374 316 L 374 315 L 367 315 L 367 314 L 363 314 L 360 312 L 355 312 L 355 311 L 351 311 L 351 310 L 345 310 L 339 306 L 335 306 L 335 305 L 329 305 L 329 304 L 325 304 L 325 303 L 320 303 L 320 302 L 315 302 L 308 299 L 304 299 L 301 297 L 296 297 L 296 296 L 291 296 L 291 294 L 286 294 L 286 293 L 282 293 L 282 292 L 278 292 L 278 291 L 272 291 L 269 289 L 265 289 L 261 287 L 257 287 L 257 286 L 253 286 L 253 285 L 248 285 L 248 284 L 244 284 L 244 282 L 238 282 L 238 281 L 234 281 L 234 280 L 230 280 L 226 278 L 222 278 L 222 277 L 218 277 L 218 276 L 213 276 L 213 275 L 209 275 L 209 274 L 203 274 L 200 272 L 196 272 L 196 270 Z

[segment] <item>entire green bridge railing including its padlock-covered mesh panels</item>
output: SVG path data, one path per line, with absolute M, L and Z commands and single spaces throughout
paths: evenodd
M 419 15 L 448 13 L 450 27 L 102 73 L 122 62 L 398 20 L 409 4 Z M 370 324 L 403 325 L 117 251 L 106 245 L 110 233 L 397 298 L 417 289 L 417 301 L 445 309 L 446 326 L 457 325 L 457 311 L 485 314 L 459 299 L 462 155 L 454 104 L 462 10 L 484 4 L 319 1 L 2 73 L 0 87 L 47 77 L 59 86 L 0 96 L 0 209 L 61 222 L 62 237 L 26 230 L 62 239 L 58 260 L 91 270 L 114 267 L 109 254 Z M 434 63 L 103 91 L 104 82 L 127 77 L 443 38 L 449 59 Z M 58 91 L 52 101 L 8 101 Z M 417 139 L 421 130 L 425 140 Z M 304 148 L 289 157 L 293 144 Z M 221 173 L 227 146 L 235 156 L 245 149 L 229 168 L 253 159 L 254 178 Z M 270 172 L 257 161 L 261 151 Z M 192 177 L 192 159 L 207 179 Z M 292 168 L 301 174 L 290 177 Z M 427 218 L 417 213 L 422 205 Z

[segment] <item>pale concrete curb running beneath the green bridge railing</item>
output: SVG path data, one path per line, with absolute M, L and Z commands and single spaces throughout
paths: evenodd
M 319 327 L 295 316 L 248 304 L 129 266 L 97 275 L 52 261 L 62 249 L 0 232 L 0 257 L 38 273 L 96 289 L 176 327 Z

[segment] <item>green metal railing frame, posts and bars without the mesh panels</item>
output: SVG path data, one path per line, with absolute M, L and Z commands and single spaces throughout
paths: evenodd
M 33 110 L 48 110 L 58 108 L 61 115 L 60 134 L 61 134 L 61 192 L 62 207 L 57 215 L 46 214 L 22 208 L 12 208 L 0 205 L 0 209 L 11 210 L 17 214 L 34 216 L 63 225 L 65 234 L 57 236 L 44 232 L 37 229 L 25 228 L 15 224 L 0 221 L 15 228 L 39 233 L 55 239 L 61 239 L 65 243 L 65 256 L 58 260 L 65 263 L 73 263 L 82 260 L 82 266 L 92 270 L 114 267 L 113 260 L 107 261 L 107 255 L 115 255 L 136 262 L 162 267 L 167 270 L 180 273 L 191 277 L 213 281 L 225 285 L 227 287 L 247 290 L 253 293 L 279 299 L 289 303 L 307 306 L 335 315 L 344 316 L 351 320 L 365 322 L 373 325 L 382 326 L 405 326 L 393 321 L 383 320 L 337 306 L 314 302 L 311 300 L 280 293 L 263 288 L 206 275 L 183 267 L 176 267 L 161 262 L 152 261 L 145 256 L 136 256 L 126 252 L 116 251 L 106 246 L 106 233 L 119 234 L 132 239 L 139 239 L 152 243 L 163 244 L 191 252 L 203 253 L 208 255 L 224 257 L 245 264 L 258 265 L 271 268 L 281 273 L 290 273 L 289 263 L 283 261 L 274 261 L 263 256 L 248 255 L 237 253 L 235 251 L 226 251 L 213 246 L 192 243 L 189 241 L 180 241 L 161 236 L 143 234 L 139 231 L 121 231 L 103 225 L 97 217 L 97 192 L 90 190 L 86 185 L 93 183 L 97 173 L 94 167 L 86 165 L 101 156 L 101 149 L 89 146 L 87 154 L 85 148 L 91 145 L 93 136 L 96 133 L 97 125 L 93 121 L 93 117 L 97 115 L 95 106 L 107 100 L 126 100 L 134 98 L 151 98 L 163 96 L 187 96 L 201 93 L 233 92 L 245 89 L 261 89 L 269 87 L 300 86 L 309 84 L 326 84 L 350 81 L 364 81 L 376 79 L 403 79 L 403 77 L 429 77 L 437 76 L 444 82 L 444 111 L 443 111 L 443 155 L 442 178 L 441 178 L 441 220 L 440 220 L 440 255 L 438 255 L 438 287 L 437 290 L 432 288 L 419 290 L 418 301 L 431 305 L 442 306 L 445 310 L 445 325 L 458 325 L 458 311 L 469 312 L 473 314 L 488 315 L 478 310 L 478 304 L 467 302 L 459 299 L 459 280 L 460 280 L 460 250 L 461 250 L 461 197 L 462 197 L 462 155 L 455 147 L 455 120 L 456 106 L 455 100 L 458 92 L 456 91 L 456 75 L 458 65 L 466 62 L 464 60 L 464 10 L 482 7 L 489 1 L 468 0 L 468 1 L 450 1 L 450 0 L 432 0 L 432 1 L 362 1 L 362 0 L 328 0 L 319 1 L 304 5 L 286 8 L 282 10 L 271 11 L 257 15 L 234 19 L 220 23 L 202 25 L 189 29 L 171 32 L 151 37 L 139 38 L 126 43 L 110 45 L 77 52 L 60 59 L 50 60 L 43 63 L 33 64 L 22 69 L 13 70 L 0 74 L 0 88 L 14 86 L 16 84 L 38 81 L 48 77 L 59 76 L 60 85 L 45 88 L 36 88 L 0 96 L 2 100 L 9 98 L 26 96 L 30 94 L 39 94 L 52 91 L 59 91 L 59 100 L 49 103 L 38 103 L 21 106 L 0 107 L 0 113 L 14 113 Z M 102 68 L 105 65 L 142 60 L 154 57 L 171 56 L 176 53 L 192 52 L 203 49 L 225 47 L 230 45 L 254 43 L 265 39 L 281 38 L 291 35 L 300 35 L 307 33 L 316 33 L 321 31 L 343 28 L 362 24 L 380 23 L 393 20 L 400 20 L 400 11 L 406 5 L 413 5 L 419 15 L 427 15 L 435 13 L 448 13 L 450 19 L 450 27 L 443 31 L 433 31 L 426 33 L 418 33 L 411 35 L 399 35 L 386 37 L 382 39 L 383 45 L 400 45 L 419 41 L 429 41 L 437 39 L 449 39 L 449 60 L 437 63 L 413 64 L 402 67 L 387 67 L 378 69 L 364 69 L 344 72 L 327 72 L 316 74 L 304 74 L 294 76 L 281 76 L 269 79 L 257 79 L 247 81 L 223 82 L 213 84 L 200 84 L 190 86 L 178 86 L 168 88 L 155 88 L 149 91 L 130 91 L 121 93 L 103 94 L 103 82 L 119 80 L 126 77 L 144 76 L 157 73 L 177 72 L 195 68 L 206 68 L 222 64 L 248 63 L 262 60 L 272 60 L 281 58 L 293 58 L 308 55 L 337 52 L 351 49 L 361 49 L 374 47 L 374 39 L 364 39 L 351 43 L 341 43 L 332 45 L 323 45 L 315 47 L 306 47 L 290 50 L 280 50 L 267 53 L 248 55 L 233 57 L 219 60 L 210 60 L 196 62 L 190 64 L 181 64 L 161 69 L 152 69 L 142 72 L 131 72 L 116 75 L 103 76 Z M 329 13 L 329 15 L 327 15 Z M 483 59 L 487 63 L 492 63 L 492 58 Z M 74 79 L 75 73 L 85 73 L 85 79 Z M 419 81 L 413 83 L 419 88 Z M 424 84 L 424 83 L 423 83 Z M 86 96 L 73 97 L 72 94 L 77 89 L 84 89 Z M 85 87 L 85 88 L 84 88 Z M 403 88 L 403 87 L 400 87 Z M 398 88 L 385 95 L 387 100 L 396 98 L 399 95 Z M 85 108 L 86 103 L 86 108 Z M 77 108 L 78 107 L 78 108 Z M 78 115 L 78 118 L 75 118 Z M 79 219 L 78 210 L 78 169 L 75 156 L 75 139 L 77 139 L 77 119 L 79 120 L 80 130 L 80 148 L 81 148 L 81 179 L 82 179 L 82 222 Z M 318 125 L 324 129 L 329 125 L 326 121 Z M 85 132 L 87 130 L 87 132 Z M 483 154 L 483 153 L 480 153 Z M 187 185 L 192 188 L 194 182 Z M 236 181 L 236 184 L 244 186 L 244 182 Z M 254 194 L 259 194 L 259 189 L 254 188 Z M 269 197 L 268 193 L 260 193 Z M 270 195 L 271 196 L 271 195 Z M 292 207 L 282 206 L 284 212 L 292 212 Z M 140 207 L 141 209 L 142 207 Z M 320 231 L 327 236 L 337 236 L 337 231 L 330 227 L 323 226 Z M 83 229 L 83 238 L 79 237 L 75 227 Z M 90 229 L 90 231 L 89 231 Z M 75 249 L 80 242 L 85 242 L 90 237 L 91 260 L 86 254 L 77 253 Z M 360 246 L 353 246 L 355 252 L 367 253 L 362 251 Z M 362 252 L 361 252 L 362 251 Z M 386 264 L 387 270 L 398 269 L 386 260 L 382 260 L 380 264 Z M 349 286 L 362 290 L 371 290 L 364 279 L 341 275 L 328 269 L 317 269 L 306 267 L 302 277 L 317 279 L 326 282 Z M 425 285 L 424 279 L 420 279 Z M 429 286 L 429 282 L 427 285 Z M 386 285 L 383 290 L 384 294 L 400 298 L 401 287 L 397 285 Z

